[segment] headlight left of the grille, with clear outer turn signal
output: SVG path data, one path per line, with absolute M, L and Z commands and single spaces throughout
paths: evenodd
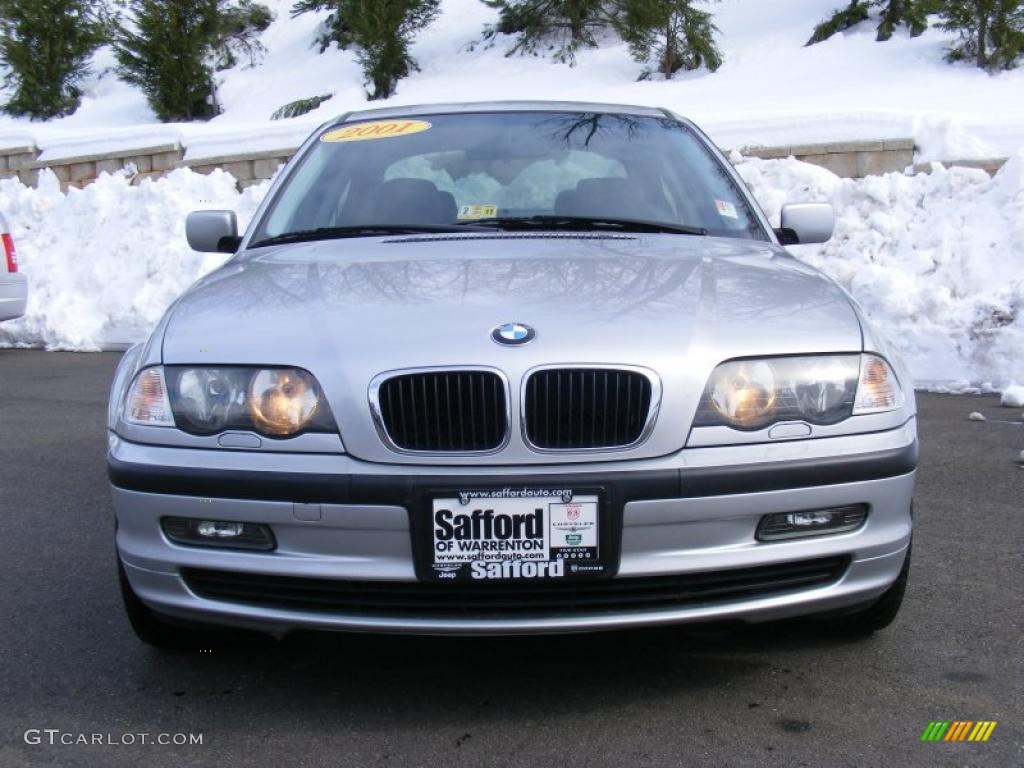
M 163 411 L 157 404 L 161 396 Z M 200 435 L 227 429 L 270 437 L 338 431 L 316 379 L 294 368 L 146 369 L 129 392 L 125 420 Z

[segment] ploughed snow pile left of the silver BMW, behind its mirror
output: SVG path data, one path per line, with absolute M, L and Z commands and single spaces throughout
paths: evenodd
M 222 171 L 178 170 L 138 186 L 103 174 L 65 195 L 49 171 L 37 188 L 0 180 L 0 210 L 29 276 L 27 313 L 0 325 L 0 346 L 95 350 L 144 338 L 182 291 L 227 258 L 188 248 L 187 213 L 230 208 L 244 226 L 268 184 L 239 194 Z

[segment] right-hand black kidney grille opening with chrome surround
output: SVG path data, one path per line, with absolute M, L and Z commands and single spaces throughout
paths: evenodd
M 651 418 L 653 395 L 651 380 L 639 371 L 538 371 L 526 382 L 526 437 L 551 451 L 632 445 Z

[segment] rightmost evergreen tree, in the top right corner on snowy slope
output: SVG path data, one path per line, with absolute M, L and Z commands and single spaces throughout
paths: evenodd
M 946 0 L 944 30 L 959 33 L 946 52 L 950 61 L 974 61 L 984 70 L 1011 70 L 1024 56 L 1024 2 Z

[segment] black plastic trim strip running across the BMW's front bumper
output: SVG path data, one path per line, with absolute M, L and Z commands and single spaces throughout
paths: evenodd
M 918 442 L 903 447 L 826 459 L 740 464 L 695 469 L 655 469 L 543 474 L 523 467 L 520 474 L 487 474 L 467 468 L 461 474 L 336 474 L 260 472 L 203 467 L 165 467 L 123 462 L 108 456 L 111 482 L 125 490 L 216 499 L 409 506 L 437 487 L 611 488 L 618 503 L 648 499 L 686 499 L 730 494 L 835 485 L 877 480 L 912 472 Z

